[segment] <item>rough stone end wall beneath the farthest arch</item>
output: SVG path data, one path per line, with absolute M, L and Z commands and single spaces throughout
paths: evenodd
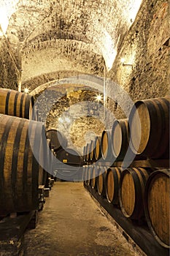
M 104 130 L 103 100 L 96 101 L 98 91 L 85 86 L 53 86 L 34 96 L 36 109 L 46 130 L 58 129 L 75 149 L 101 135 Z

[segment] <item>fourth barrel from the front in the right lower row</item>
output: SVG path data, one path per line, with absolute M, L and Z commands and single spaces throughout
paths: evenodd
M 98 167 L 98 176 L 96 178 L 96 187 L 98 195 L 106 196 L 105 177 L 107 175 L 107 167 Z

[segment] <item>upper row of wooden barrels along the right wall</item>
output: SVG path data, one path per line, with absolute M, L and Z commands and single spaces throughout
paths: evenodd
M 169 97 L 137 101 L 128 118 L 115 119 L 84 147 L 84 162 L 169 158 Z

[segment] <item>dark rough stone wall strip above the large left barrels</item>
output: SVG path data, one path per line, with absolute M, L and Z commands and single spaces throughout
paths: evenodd
M 20 71 L 9 43 L 5 37 L 0 38 L 0 87 L 18 90 Z

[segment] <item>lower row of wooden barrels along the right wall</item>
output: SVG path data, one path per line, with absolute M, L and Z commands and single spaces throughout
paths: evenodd
M 129 219 L 147 220 L 152 235 L 169 248 L 169 170 L 150 168 L 98 167 L 86 165 L 85 186 L 90 186 L 108 203 L 120 206 Z

